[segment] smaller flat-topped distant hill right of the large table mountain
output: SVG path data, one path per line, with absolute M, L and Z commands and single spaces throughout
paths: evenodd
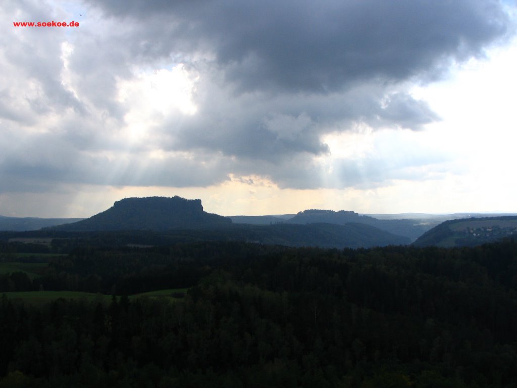
M 408 237 L 411 241 L 416 240 L 416 238 L 438 223 L 423 223 L 414 219 L 377 219 L 364 215 L 361 216 L 355 212 L 345 210 L 334 212 L 332 210 L 316 209 L 299 212 L 296 216 L 285 222 L 301 224 L 327 222 L 337 225 L 345 225 L 350 222 L 364 223 L 392 234 Z

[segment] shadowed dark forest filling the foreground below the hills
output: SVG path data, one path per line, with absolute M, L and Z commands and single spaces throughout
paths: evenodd
M 513 240 L 88 245 L 41 276 L 2 274 L 0 288 L 0 387 L 517 386 Z M 38 290 L 113 296 L 9 297 Z

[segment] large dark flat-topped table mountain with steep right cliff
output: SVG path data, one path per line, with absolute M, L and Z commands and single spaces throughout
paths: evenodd
M 52 227 L 64 231 L 170 230 L 230 225 L 232 220 L 203 210 L 200 199 L 126 198 L 79 222 Z

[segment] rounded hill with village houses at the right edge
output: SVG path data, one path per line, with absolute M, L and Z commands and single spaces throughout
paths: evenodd
M 425 232 L 416 246 L 475 246 L 504 237 L 517 237 L 517 216 L 472 217 L 454 219 Z

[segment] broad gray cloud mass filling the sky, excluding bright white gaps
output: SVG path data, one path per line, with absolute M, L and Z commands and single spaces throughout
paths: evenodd
M 329 156 L 324 135 L 358 123 L 418 130 L 439 120 L 407 85 L 445 77 L 452 62 L 481 57 L 513 33 L 495 0 L 86 0 L 75 7 L 88 14 L 75 31 L 13 28 L 0 37 L 0 191 L 58 182 L 207 186 L 230 174 L 262 175 L 282 188 L 424 178 L 412 171 L 434 162 L 425 158 L 332 166 L 315 158 Z M 2 8 L 7 24 L 70 16 L 50 1 Z M 64 42 L 73 46 L 73 92 L 61 78 Z M 165 112 L 129 141 L 131 107 L 119 101 L 119 83 L 180 63 L 199 76 L 197 112 Z M 150 157 L 153 151 L 163 156 Z

